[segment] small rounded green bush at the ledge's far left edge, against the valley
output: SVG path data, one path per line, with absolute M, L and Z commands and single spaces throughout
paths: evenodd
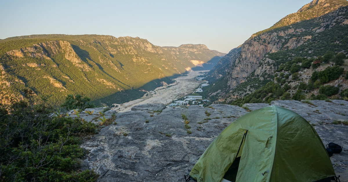
M 61 105 L 62 107 L 65 107 L 68 110 L 72 109 L 81 109 L 84 110 L 86 108 L 95 108 L 96 106 L 89 102 L 90 98 L 83 97 L 80 94 L 74 95 L 68 95 L 65 98 L 65 102 Z

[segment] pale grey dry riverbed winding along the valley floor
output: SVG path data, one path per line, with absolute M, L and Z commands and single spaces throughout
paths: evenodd
M 175 78 L 175 82 L 168 86 L 158 87 L 154 90 L 153 95 L 148 95 L 148 97 L 143 97 L 137 100 L 126 102 L 122 105 L 117 105 L 117 108 L 112 108 L 113 110 L 117 110 L 118 112 L 127 112 L 130 111 L 132 106 L 140 105 L 140 104 L 149 104 L 149 103 L 157 103 L 157 104 L 167 104 L 180 98 L 182 96 L 188 95 L 193 92 L 193 90 L 201 85 L 203 81 L 197 81 L 195 78 L 198 75 L 201 75 L 200 72 L 205 71 L 190 71 L 187 76 L 181 76 Z

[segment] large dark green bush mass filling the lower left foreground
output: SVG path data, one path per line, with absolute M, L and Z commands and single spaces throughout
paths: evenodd
M 0 105 L 0 181 L 93 182 L 94 171 L 78 172 L 84 156 L 81 136 L 97 133 L 96 125 L 78 118 L 52 116 L 53 108 L 25 100 Z

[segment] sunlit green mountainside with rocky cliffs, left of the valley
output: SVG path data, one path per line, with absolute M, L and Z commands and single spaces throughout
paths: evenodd
M 205 64 L 212 67 L 221 58 L 205 45 L 162 48 L 139 37 L 109 35 L 30 35 L 0 44 L 1 68 L 6 75 L 1 82 L 17 93 L 29 87 L 53 94 L 54 103 L 80 92 L 93 100 L 118 93 L 112 97 L 128 97 L 122 100 L 126 102 L 141 97 L 144 93 L 139 90 L 153 90 L 170 81 L 166 77 L 196 66 L 205 68 Z

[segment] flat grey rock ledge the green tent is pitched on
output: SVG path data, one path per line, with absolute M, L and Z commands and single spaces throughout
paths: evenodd
M 342 145 L 343 151 L 334 154 L 331 161 L 336 174 L 341 175 L 341 181 L 348 181 L 348 126 L 332 124 L 337 120 L 348 120 L 348 102 L 290 100 L 271 104 L 290 109 L 307 119 L 324 144 Z M 244 108 L 255 110 L 265 106 L 269 104 L 245 104 Z M 184 181 L 184 175 L 215 137 L 231 122 L 248 113 L 244 108 L 221 104 L 207 108 L 189 106 L 159 110 L 146 105 L 136 108 L 136 111 L 117 113 L 117 124 L 103 127 L 81 145 L 89 151 L 81 160 L 81 168 L 97 171 L 100 174 L 98 181 Z M 110 118 L 111 114 L 108 115 Z M 185 128 L 182 115 L 188 118 L 191 128 Z M 84 118 L 85 114 L 80 117 Z

